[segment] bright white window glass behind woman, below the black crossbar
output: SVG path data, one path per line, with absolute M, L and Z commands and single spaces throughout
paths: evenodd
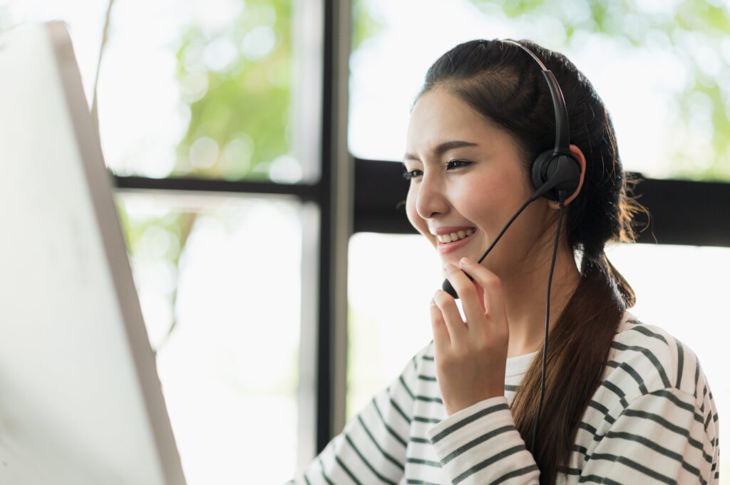
M 351 418 L 401 373 L 433 338 L 429 300 L 441 287 L 440 258 L 423 236 L 358 233 L 350 239 L 347 416 Z M 618 244 L 607 255 L 637 293 L 630 309 L 699 356 L 730 432 L 726 329 L 730 249 Z M 547 284 L 547 282 L 546 282 Z M 730 467 L 720 476 L 730 484 Z

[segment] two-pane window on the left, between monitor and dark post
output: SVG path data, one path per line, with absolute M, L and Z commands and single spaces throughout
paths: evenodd
M 310 0 L 0 0 L 0 29 L 69 27 L 191 485 L 283 482 L 330 432 L 316 352 L 348 212 L 321 149 L 339 123 L 325 18 Z

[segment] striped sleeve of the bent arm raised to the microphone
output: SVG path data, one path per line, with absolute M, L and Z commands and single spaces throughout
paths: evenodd
M 661 389 L 606 416 L 579 481 L 718 484 L 718 417 L 712 395 Z M 483 400 L 431 428 L 429 440 L 453 484 L 538 484 L 539 470 L 504 397 Z

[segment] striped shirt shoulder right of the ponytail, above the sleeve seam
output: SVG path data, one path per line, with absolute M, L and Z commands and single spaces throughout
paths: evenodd
M 710 392 L 694 351 L 657 325 L 626 311 L 615 335 L 604 379 L 619 384 L 626 400 L 676 390 L 701 405 Z

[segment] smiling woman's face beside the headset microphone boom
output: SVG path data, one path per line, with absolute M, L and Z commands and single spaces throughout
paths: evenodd
M 464 256 L 478 260 L 534 192 L 512 136 L 443 88 L 416 102 L 406 147 L 404 165 L 413 175 L 408 220 L 438 250 L 442 264 Z M 545 199 L 531 203 L 483 264 L 502 277 L 514 273 L 537 247 L 547 217 Z M 452 235 L 466 238 L 447 242 Z

